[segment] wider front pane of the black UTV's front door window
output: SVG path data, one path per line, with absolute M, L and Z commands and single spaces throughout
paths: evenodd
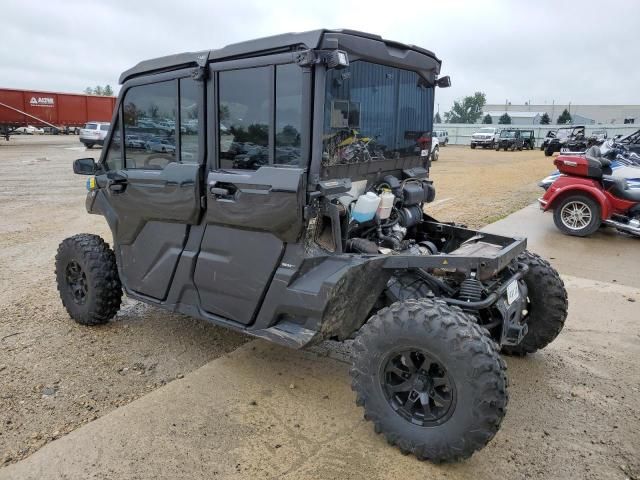
M 131 87 L 125 96 L 124 142 L 128 169 L 163 169 L 176 161 L 176 82 Z

